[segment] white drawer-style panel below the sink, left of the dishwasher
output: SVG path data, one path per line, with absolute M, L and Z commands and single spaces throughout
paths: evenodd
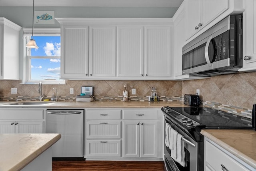
M 0 113 L 1 120 L 3 119 L 26 119 L 26 120 L 34 120 L 34 119 L 44 119 L 44 110 L 23 110 L 23 109 L 12 109 L 12 110 L 1 110 Z

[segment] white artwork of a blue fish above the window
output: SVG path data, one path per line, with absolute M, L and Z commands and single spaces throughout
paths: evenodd
M 54 11 L 35 11 L 34 24 L 54 24 Z

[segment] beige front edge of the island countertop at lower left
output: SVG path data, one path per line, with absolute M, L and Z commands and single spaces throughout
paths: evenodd
M 48 141 L 46 144 L 38 148 L 36 151 L 25 157 L 20 163 L 17 163 L 14 165 L 9 171 L 19 171 L 23 169 L 26 165 L 28 165 L 31 161 L 36 159 L 40 154 L 42 154 L 44 151 L 46 151 L 49 147 L 51 147 L 54 143 L 56 143 L 61 138 L 60 134 L 56 133 L 56 136 L 53 137 L 50 141 Z

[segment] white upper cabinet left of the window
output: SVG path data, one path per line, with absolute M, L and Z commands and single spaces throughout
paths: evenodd
M 20 29 L 17 24 L 0 17 L 1 80 L 19 80 Z

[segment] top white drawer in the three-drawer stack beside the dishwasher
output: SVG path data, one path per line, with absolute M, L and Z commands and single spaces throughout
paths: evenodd
M 121 119 L 121 110 L 87 110 L 86 119 Z

